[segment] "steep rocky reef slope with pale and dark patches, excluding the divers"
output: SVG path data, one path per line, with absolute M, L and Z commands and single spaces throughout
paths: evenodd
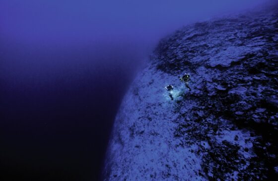
M 122 102 L 106 180 L 277 178 L 277 32 L 274 6 L 189 25 L 161 40 Z M 192 91 L 177 78 L 183 73 L 190 73 Z

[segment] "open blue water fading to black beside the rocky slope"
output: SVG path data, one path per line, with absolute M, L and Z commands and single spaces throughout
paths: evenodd
M 1 0 L 0 180 L 100 177 L 115 114 L 158 40 L 264 0 Z

